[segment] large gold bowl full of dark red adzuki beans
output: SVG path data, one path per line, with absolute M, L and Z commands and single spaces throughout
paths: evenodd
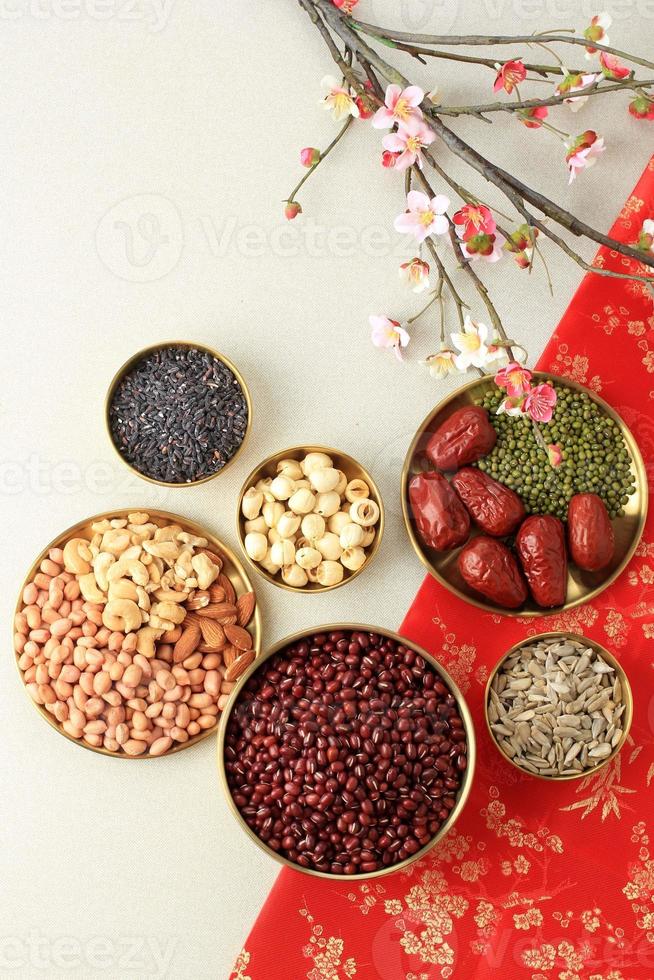
M 422 857 L 472 783 L 468 707 L 447 672 L 388 630 L 323 626 L 273 647 L 223 718 L 221 780 L 264 850 L 321 877 L 377 877 Z

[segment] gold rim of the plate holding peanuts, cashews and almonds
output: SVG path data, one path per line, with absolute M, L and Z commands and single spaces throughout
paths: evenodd
M 66 528 L 66 530 L 60 531 L 59 534 L 57 534 L 52 539 L 52 541 L 50 541 L 50 543 L 47 544 L 39 552 L 36 559 L 32 562 L 27 574 L 23 578 L 22 584 L 20 585 L 18 590 L 18 595 L 11 618 L 11 650 L 13 652 L 16 670 L 18 671 L 20 685 L 25 692 L 25 696 L 27 700 L 38 711 L 41 717 L 48 722 L 50 727 L 53 728 L 59 735 L 63 735 L 63 737 L 68 739 L 69 742 L 73 742 L 75 745 L 78 745 L 80 748 L 86 749 L 90 752 L 96 752 L 98 755 L 109 756 L 112 759 L 120 759 L 120 760 L 126 759 L 131 762 L 143 762 L 146 760 L 150 761 L 154 759 L 165 759 L 168 756 L 176 755 L 178 752 L 184 751 L 184 749 L 190 749 L 193 745 L 197 745 L 198 742 L 203 741 L 205 738 L 210 738 L 212 735 L 215 736 L 217 729 L 220 729 L 221 727 L 222 715 L 224 712 L 221 712 L 218 715 L 218 721 L 213 726 L 213 728 L 209 728 L 206 731 L 199 732 L 197 735 L 193 735 L 187 742 L 180 742 L 178 744 L 173 745 L 167 752 L 164 752 L 163 755 L 161 756 L 152 756 L 149 755 L 148 753 L 144 753 L 143 755 L 131 756 L 131 755 L 127 755 L 125 752 L 112 752 L 110 749 L 98 748 L 94 745 L 88 745 L 82 739 L 73 738 L 71 735 L 68 734 L 68 732 L 64 731 L 64 729 L 61 727 L 59 722 L 50 714 L 50 712 L 46 711 L 43 705 L 37 704 L 36 701 L 34 701 L 30 697 L 29 692 L 27 690 L 27 686 L 23 679 L 23 671 L 21 670 L 18 664 L 19 654 L 16 651 L 16 646 L 14 641 L 14 636 L 16 632 L 14 623 L 15 623 L 16 615 L 20 612 L 21 606 L 23 605 L 23 590 L 38 571 L 39 565 L 41 564 L 43 559 L 47 558 L 50 549 L 61 547 L 61 544 L 67 538 L 74 536 L 78 531 L 83 530 L 89 524 L 93 524 L 96 521 L 120 517 L 121 515 L 127 517 L 128 514 L 135 514 L 135 513 L 147 513 L 151 518 L 155 517 L 161 519 L 162 521 L 170 521 L 171 523 L 175 522 L 175 523 L 182 524 L 184 529 L 188 528 L 188 530 L 197 534 L 199 537 L 207 538 L 209 545 L 214 545 L 214 547 L 218 547 L 219 550 L 224 553 L 225 557 L 228 558 L 229 561 L 233 564 L 235 569 L 237 569 L 238 574 L 243 579 L 244 584 L 248 586 L 248 591 L 254 592 L 256 595 L 256 590 L 254 589 L 250 577 L 247 573 L 247 570 L 243 567 L 243 564 L 241 563 L 238 555 L 236 555 L 236 553 L 233 551 L 232 548 L 229 547 L 229 545 L 224 544 L 220 538 L 216 537 L 216 535 L 207 531 L 207 529 L 202 524 L 198 524 L 196 521 L 188 520 L 186 517 L 182 517 L 180 514 L 174 514 L 171 513 L 170 511 L 159 510 L 159 508 L 156 507 L 148 507 L 148 508 L 117 507 L 114 508 L 113 510 L 104 511 L 100 514 L 93 514 L 84 520 L 77 521 L 69 528 Z M 256 658 L 258 658 L 261 653 L 261 642 L 262 642 L 261 609 L 258 601 L 255 605 L 254 615 L 252 616 L 251 622 L 253 623 L 253 639 L 254 639 L 253 649 L 255 650 L 255 663 L 256 663 L 257 662 Z

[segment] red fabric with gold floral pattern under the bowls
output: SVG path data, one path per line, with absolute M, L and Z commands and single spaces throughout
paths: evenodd
M 613 235 L 654 216 L 654 158 Z M 629 260 L 602 249 L 596 264 Z M 600 392 L 631 427 L 654 483 L 654 310 L 646 289 L 589 274 L 539 367 Z M 485 731 L 489 668 L 529 633 L 570 629 L 623 662 L 635 711 L 628 743 L 595 777 L 522 776 Z M 368 884 L 283 870 L 233 980 L 652 980 L 654 977 L 654 515 L 628 570 L 561 616 L 472 609 L 427 578 L 402 632 L 464 692 L 479 759 L 467 806 L 422 861 Z M 650 837 L 652 840 L 650 841 Z

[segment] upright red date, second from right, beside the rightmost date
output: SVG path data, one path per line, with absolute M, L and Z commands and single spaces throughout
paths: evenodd
M 568 590 L 565 532 L 557 517 L 528 517 L 518 531 L 516 548 L 534 601 L 546 608 L 562 606 Z

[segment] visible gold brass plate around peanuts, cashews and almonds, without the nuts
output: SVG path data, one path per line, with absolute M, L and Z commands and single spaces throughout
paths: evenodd
M 93 517 L 88 517 L 86 518 L 86 520 L 80 521 L 78 524 L 74 524 L 72 527 L 69 527 L 67 530 L 62 531 L 61 534 L 58 534 L 57 537 L 54 538 L 54 540 L 52 540 L 50 544 L 48 544 L 43 549 L 43 551 L 40 553 L 38 558 L 36 558 L 36 560 L 33 562 L 27 575 L 25 576 L 23 580 L 23 584 L 21 585 L 20 591 L 18 593 L 18 601 L 16 602 L 16 607 L 14 610 L 14 618 L 15 615 L 18 612 L 20 612 L 20 609 L 23 605 L 22 602 L 23 589 L 29 582 L 32 581 L 33 576 L 36 574 L 36 572 L 39 569 L 39 565 L 41 564 L 44 558 L 48 557 L 48 552 L 50 551 L 51 548 L 62 548 L 66 543 L 66 541 L 70 540 L 70 538 L 72 537 L 76 537 L 77 535 L 82 535 L 82 536 L 87 535 L 90 538 L 92 536 L 92 531 L 90 530 L 91 524 L 94 524 L 96 521 L 101 521 L 105 518 L 111 519 L 114 517 L 124 518 L 127 517 L 128 514 L 132 514 L 139 510 L 143 510 L 143 508 L 130 507 L 128 509 L 116 509 L 116 510 L 105 511 L 105 513 L 103 514 L 95 514 Z M 243 566 L 241 565 L 238 557 L 234 554 L 231 548 L 228 548 L 227 545 L 223 544 L 222 541 L 216 538 L 213 534 L 210 534 L 209 531 L 206 530 L 206 528 L 202 527 L 200 524 L 196 524 L 194 521 L 187 520 L 185 517 L 180 517 L 178 514 L 169 514 L 163 510 L 154 510 L 152 508 L 148 508 L 147 513 L 150 515 L 150 520 L 153 523 L 158 524 L 160 527 L 166 524 L 173 524 L 173 523 L 180 524 L 185 531 L 189 531 L 192 534 L 207 538 L 209 542 L 209 549 L 214 550 L 217 554 L 219 554 L 222 558 L 224 558 L 225 563 L 223 565 L 222 571 L 223 574 L 225 574 L 229 578 L 230 582 L 234 586 L 236 595 L 241 596 L 245 592 L 254 591 L 252 583 L 248 578 L 248 575 L 245 569 L 243 568 Z M 12 618 L 11 625 L 12 625 L 12 648 L 14 648 L 13 618 Z M 256 656 L 258 657 L 261 652 L 261 614 L 259 612 L 258 604 L 255 607 L 254 615 L 252 616 L 248 629 L 252 634 L 253 649 L 256 653 Z M 25 687 L 25 682 L 23 680 L 23 672 L 18 666 L 18 655 L 15 649 L 14 649 L 14 659 L 16 662 L 16 669 L 20 677 L 20 683 L 25 689 L 25 694 L 30 704 L 32 704 L 36 708 L 39 714 L 43 718 L 45 718 L 48 724 L 52 728 L 54 728 L 57 732 L 59 732 L 60 735 L 63 735 L 65 738 L 69 739 L 69 741 L 71 742 L 74 742 L 76 745 L 80 745 L 84 749 L 89 749 L 91 752 L 97 752 L 100 755 L 108 755 L 108 756 L 112 756 L 115 759 L 128 759 L 135 762 L 142 759 L 166 758 L 166 756 L 173 755 L 174 753 L 177 752 L 181 752 L 184 749 L 189 749 L 192 745 L 195 745 L 197 742 L 201 742 L 202 739 L 204 738 L 209 738 L 211 735 L 215 736 L 216 728 L 220 724 L 221 715 L 218 715 L 218 723 L 217 725 L 214 725 L 213 728 L 209 728 L 206 731 L 200 732 L 198 735 L 194 735 L 192 738 L 188 740 L 188 742 L 181 742 L 179 744 L 175 744 L 171 749 L 168 750 L 168 752 L 165 752 L 160 757 L 155 757 L 147 754 L 138 755 L 138 756 L 129 756 L 124 752 L 111 752 L 105 748 L 96 748 L 93 745 L 87 745 L 86 742 L 80 739 L 72 738 L 70 735 L 68 735 L 67 732 L 64 731 L 64 729 L 59 724 L 59 722 L 54 718 L 54 716 L 51 715 L 48 711 L 46 711 L 45 707 L 36 704 L 36 702 L 32 700 L 32 698 L 29 696 L 29 693 L 27 692 L 27 688 Z

